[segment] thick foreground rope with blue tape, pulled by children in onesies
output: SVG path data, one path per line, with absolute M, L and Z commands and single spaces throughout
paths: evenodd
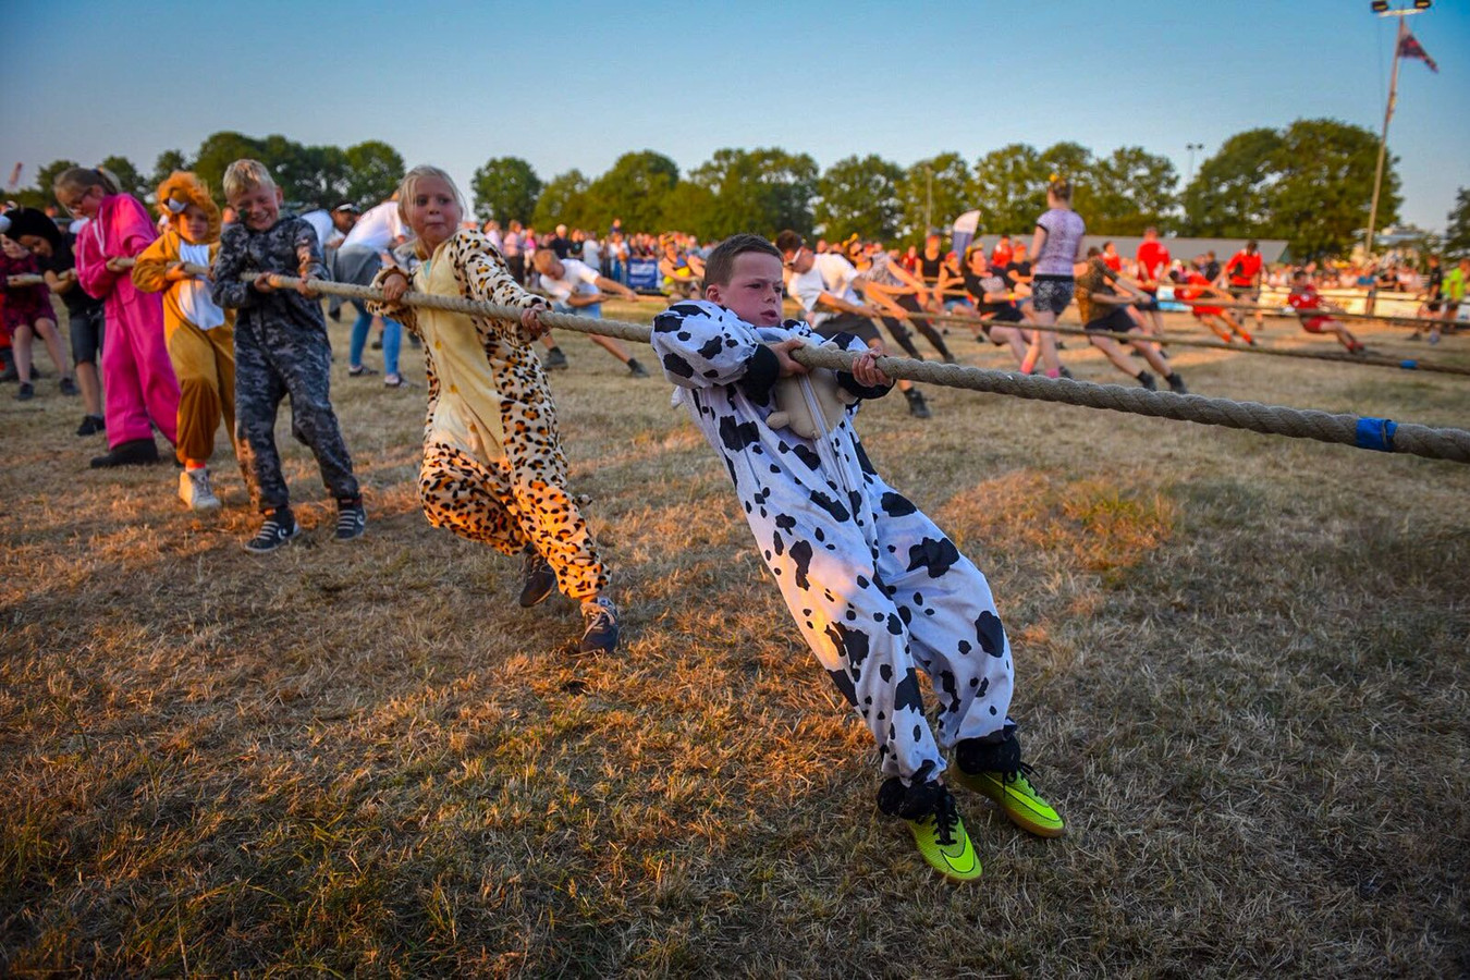
M 254 275 L 241 276 L 251 281 Z M 301 281 L 290 276 L 270 276 L 276 288 L 295 288 Z M 382 292 L 368 287 L 340 282 L 312 281 L 316 291 L 353 300 L 381 300 Z M 406 292 L 401 303 L 437 310 L 451 310 L 470 316 L 488 316 L 501 320 L 519 320 L 522 310 L 512 306 L 479 303 L 462 297 L 440 297 L 423 292 Z M 625 341 L 648 342 L 653 328 L 644 323 L 622 320 L 594 320 L 566 313 L 542 311 L 544 325 L 556 329 L 616 336 Z M 854 354 L 831 348 L 803 347 L 791 353 L 792 359 L 807 367 L 848 370 Z M 1229 401 L 1204 398 L 1201 395 L 1176 395 L 1144 388 L 1122 388 L 1119 385 L 1094 385 L 1066 378 L 1033 378 L 1000 370 L 963 367 L 960 364 L 935 364 L 901 357 L 879 357 L 878 366 L 889 378 L 907 378 L 947 388 L 983 391 L 1000 395 L 1014 395 L 1036 401 L 1060 401 L 1088 408 L 1108 408 L 1177 422 L 1250 429 L 1267 435 L 1285 435 L 1298 439 L 1335 442 L 1360 450 L 1379 453 L 1402 453 L 1430 460 L 1454 460 L 1470 463 L 1470 432 L 1464 429 L 1439 429 L 1432 426 L 1398 423 L 1391 419 L 1372 419 L 1349 414 L 1332 414 L 1313 408 L 1288 408 L 1264 406 L 1255 401 Z

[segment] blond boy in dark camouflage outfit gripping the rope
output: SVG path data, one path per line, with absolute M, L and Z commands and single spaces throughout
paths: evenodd
M 322 480 L 337 498 L 338 541 L 360 538 L 368 525 L 353 460 L 347 454 L 329 400 L 332 348 L 326 320 L 307 279 L 325 279 L 322 250 L 312 226 L 281 215 L 281 190 L 265 165 L 235 160 L 225 170 L 225 198 L 240 223 L 220 235 L 213 267 L 213 297 L 240 310 L 235 319 L 235 441 L 250 498 L 265 514 L 245 544 L 263 554 L 300 533 L 291 514 L 275 419 L 291 397 L 291 432 L 310 447 Z M 241 273 L 256 273 L 253 281 Z M 295 294 L 270 285 L 272 275 L 303 279 Z

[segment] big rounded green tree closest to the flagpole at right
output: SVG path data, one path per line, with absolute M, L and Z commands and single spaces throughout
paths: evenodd
M 1377 137 L 1336 119 L 1298 119 L 1286 126 L 1273 160 L 1270 237 L 1291 241 L 1294 256 L 1351 251 L 1369 223 Z M 1385 162 L 1377 226 L 1398 220 L 1398 175 Z

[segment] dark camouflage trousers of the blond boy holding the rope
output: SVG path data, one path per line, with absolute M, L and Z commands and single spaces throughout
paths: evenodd
M 235 323 L 235 444 L 250 500 L 262 511 L 290 502 L 275 420 L 281 400 L 291 398 L 291 435 L 316 455 L 322 483 L 337 500 L 359 495 L 331 403 L 332 348 L 326 334 L 291 322 Z

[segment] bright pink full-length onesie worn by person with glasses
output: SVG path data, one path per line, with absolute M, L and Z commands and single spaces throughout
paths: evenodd
M 107 259 L 132 259 L 154 238 L 148 212 L 128 194 L 104 197 L 76 235 L 78 281 L 107 304 L 101 383 L 110 447 L 151 439 L 150 419 L 163 438 L 178 441 L 179 382 L 163 341 L 163 300 L 140 292 L 128 272 L 107 272 Z

